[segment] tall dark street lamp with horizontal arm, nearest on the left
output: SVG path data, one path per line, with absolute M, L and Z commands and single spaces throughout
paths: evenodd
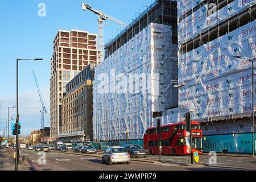
M 43 60 L 41 58 L 36 58 L 36 59 L 16 59 L 16 154 L 15 154 L 15 171 L 18 171 L 18 162 L 19 162 L 19 61 L 39 61 Z

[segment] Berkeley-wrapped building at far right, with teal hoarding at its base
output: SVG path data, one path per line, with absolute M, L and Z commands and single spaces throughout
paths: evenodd
M 179 89 L 179 108 L 168 113 L 183 121 L 184 114 L 193 111 L 192 119 L 201 122 L 205 136 L 204 152 L 255 150 L 251 117 L 256 89 L 251 67 L 256 59 L 255 3 L 177 1 L 179 83 L 185 86 Z

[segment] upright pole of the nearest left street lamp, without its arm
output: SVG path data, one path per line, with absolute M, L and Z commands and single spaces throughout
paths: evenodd
M 18 125 L 19 125 L 19 101 L 18 101 L 18 63 L 19 59 L 16 59 L 16 154 L 15 154 L 15 171 L 18 171 L 18 163 L 19 163 L 19 129 L 18 129 Z

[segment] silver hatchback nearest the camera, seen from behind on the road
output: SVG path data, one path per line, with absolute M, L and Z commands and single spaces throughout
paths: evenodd
M 102 163 L 126 163 L 130 164 L 130 154 L 127 152 L 125 147 L 113 146 L 109 147 L 102 155 Z

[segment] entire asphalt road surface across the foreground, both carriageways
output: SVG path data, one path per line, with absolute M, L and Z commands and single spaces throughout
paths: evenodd
M 146 158 L 133 158 L 131 163 L 102 164 L 101 153 L 81 154 L 81 152 L 46 153 L 45 159 L 40 164 L 39 152 L 20 150 L 20 156 L 24 155 L 28 166 L 39 171 L 234 171 L 255 170 L 256 159 L 250 157 L 221 156 L 217 155 L 216 164 L 209 164 L 208 155 L 200 155 L 199 164 L 190 164 L 191 157 L 163 155 L 159 162 L 158 155 L 148 155 Z

